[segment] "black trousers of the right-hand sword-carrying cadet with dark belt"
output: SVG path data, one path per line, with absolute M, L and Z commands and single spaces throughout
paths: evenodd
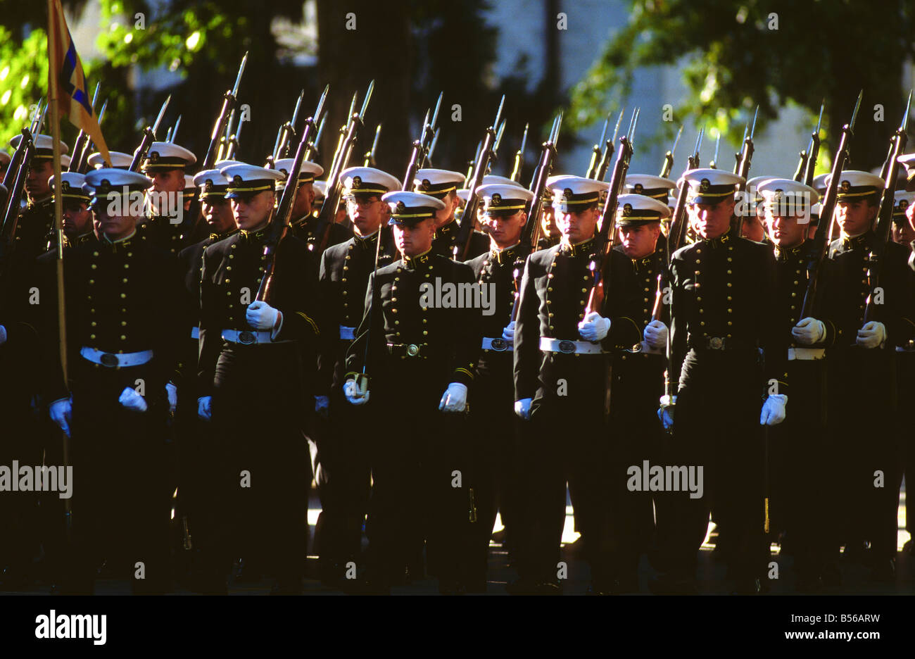
M 762 385 L 757 350 L 686 355 L 666 462 L 703 467 L 704 494 L 669 494 L 677 513 L 667 558 L 677 577 L 694 578 L 711 510 L 727 529 L 732 575 L 763 574 L 769 552 L 763 535 Z

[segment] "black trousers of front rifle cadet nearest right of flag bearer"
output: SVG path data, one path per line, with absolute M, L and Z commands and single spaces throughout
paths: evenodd
M 292 342 L 227 346 L 211 405 L 222 569 L 245 556 L 291 587 L 305 570 L 311 483 L 302 415 L 314 403 L 303 400 L 300 364 Z

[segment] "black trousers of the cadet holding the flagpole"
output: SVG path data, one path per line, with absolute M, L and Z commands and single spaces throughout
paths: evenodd
M 171 496 L 165 382 L 147 365 L 115 370 L 80 358 L 71 368 L 74 550 L 63 589 L 92 591 L 107 560 L 131 576 L 135 592 L 163 592 Z M 142 413 L 118 402 L 137 379 L 145 381 Z

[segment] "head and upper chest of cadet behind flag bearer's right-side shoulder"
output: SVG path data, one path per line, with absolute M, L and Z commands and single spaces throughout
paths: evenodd
M 146 193 L 146 220 L 139 226 L 140 237 L 172 254 L 184 247 L 184 175 L 186 167 L 196 162 L 197 157 L 183 146 L 153 142 L 140 167 L 153 181 Z

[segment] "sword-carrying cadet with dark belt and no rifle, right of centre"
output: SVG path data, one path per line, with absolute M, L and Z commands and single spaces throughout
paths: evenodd
M 784 420 L 787 345 L 778 319 L 775 257 L 732 226 L 740 180 L 720 169 L 684 173 L 697 240 L 677 250 L 671 263 L 671 374 L 679 385 L 671 400 L 662 397 L 659 416 L 665 428 L 673 427 L 673 464 L 702 466 L 705 482 L 696 498 L 694 492 L 668 494 L 681 510 L 668 572 L 653 582 L 659 591 L 694 591 L 710 510 L 733 547 L 728 567 L 737 592 L 760 591 L 769 555 L 759 426 Z M 760 405 L 763 393 L 768 396 Z

